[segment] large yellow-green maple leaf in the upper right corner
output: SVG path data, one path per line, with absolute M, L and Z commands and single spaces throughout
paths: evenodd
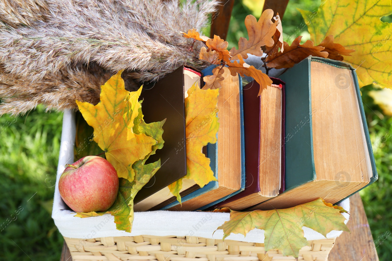
M 356 50 L 345 61 L 356 68 L 360 86 L 392 88 L 392 24 L 380 20 L 392 13 L 390 0 L 323 0 L 317 14 L 300 11 L 311 19 L 308 30 L 315 44 L 332 35 L 336 43 Z

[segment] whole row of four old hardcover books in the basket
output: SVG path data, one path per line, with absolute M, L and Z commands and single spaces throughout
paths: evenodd
M 355 70 L 310 56 L 271 78 L 260 96 L 255 81 L 242 86 L 241 77 L 224 76 L 218 141 L 203 149 L 217 181 L 200 188 L 183 179 L 180 204 L 167 185 L 186 175 L 184 99 L 213 68 L 180 67 L 143 87 L 145 121 L 167 122 L 165 145 L 151 156 L 162 167 L 136 195 L 135 211 L 281 209 L 320 197 L 336 203 L 377 180 Z

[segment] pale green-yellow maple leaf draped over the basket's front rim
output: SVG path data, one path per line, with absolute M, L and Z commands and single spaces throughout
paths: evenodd
M 321 198 L 289 209 L 230 211 L 230 220 L 218 229 L 223 229 L 223 239 L 230 233 L 245 236 L 252 229 L 263 229 L 265 251 L 279 249 L 284 256 L 298 257 L 299 250 L 309 245 L 303 226 L 323 236 L 332 230 L 350 231 L 341 211 L 340 207 L 325 203 Z

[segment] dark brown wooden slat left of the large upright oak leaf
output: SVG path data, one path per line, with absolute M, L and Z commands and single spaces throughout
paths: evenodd
M 234 0 L 221 0 L 220 4 L 218 11 L 212 14 L 210 38 L 214 38 L 216 34 L 221 39 L 226 39 Z

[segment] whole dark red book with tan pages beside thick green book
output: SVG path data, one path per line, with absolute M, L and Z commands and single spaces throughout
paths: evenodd
M 257 96 L 256 81 L 243 87 L 245 190 L 209 208 L 240 211 L 277 196 L 285 189 L 285 83 L 270 78 Z

